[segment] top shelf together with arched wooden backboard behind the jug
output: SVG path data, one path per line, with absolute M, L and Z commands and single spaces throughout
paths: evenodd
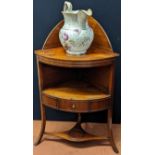
M 88 68 L 112 64 L 117 53 L 113 52 L 109 38 L 103 27 L 93 18 L 88 17 L 88 24 L 94 31 L 94 40 L 85 55 L 66 54 L 59 40 L 59 32 L 64 21 L 60 21 L 49 33 L 42 50 L 37 50 L 39 62 L 67 68 Z

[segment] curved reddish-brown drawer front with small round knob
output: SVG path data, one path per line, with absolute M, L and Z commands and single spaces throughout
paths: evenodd
M 95 112 L 111 108 L 111 99 L 96 101 L 73 101 L 59 98 L 52 98 L 42 95 L 43 104 L 54 109 L 67 112 Z

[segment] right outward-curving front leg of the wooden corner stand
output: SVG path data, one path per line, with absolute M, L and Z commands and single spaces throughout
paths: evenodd
M 110 143 L 114 152 L 118 153 L 118 149 L 115 145 L 113 133 L 112 133 L 112 109 L 108 109 L 108 136 L 110 138 Z

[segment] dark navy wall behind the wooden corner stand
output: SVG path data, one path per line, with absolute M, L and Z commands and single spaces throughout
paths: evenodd
M 93 10 L 93 17 L 104 27 L 112 43 L 114 51 L 121 52 L 121 0 L 70 0 L 75 9 L 82 8 Z M 42 48 L 50 30 L 63 19 L 61 10 L 64 0 L 34 0 L 33 20 L 33 45 L 34 50 Z M 36 61 L 34 58 L 34 88 L 33 88 L 33 117 L 40 119 L 39 92 Z M 85 121 L 105 121 L 106 112 L 98 112 L 83 115 Z M 49 120 L 75 120 L 76 115 L 53 109 L 47 109 Z M 121 121 L 121 57 L 116 61 L 115 94 L 113 122 Z

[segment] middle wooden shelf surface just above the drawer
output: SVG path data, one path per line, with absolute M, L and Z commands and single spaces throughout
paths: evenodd
M 66 100 L 96 100 L 110 95 L 82 81 L 69 81 L 42 91 L 44 95 Z

